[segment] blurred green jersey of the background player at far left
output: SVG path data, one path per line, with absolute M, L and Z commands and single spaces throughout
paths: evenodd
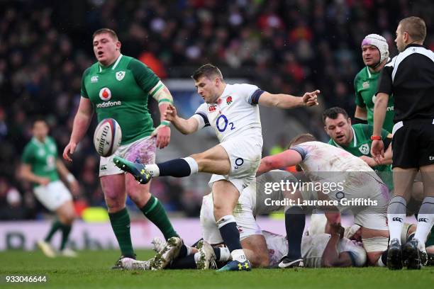
M 45 137 L 45 142 L 40 142 L 35 137 L 24 147 L 21 161 L 29 164 L 33 174 L 49 178 L 50 181 L 57 181 L 57 146 L 52 137 Z M 36 184 L 39 186 L 39 184 Z

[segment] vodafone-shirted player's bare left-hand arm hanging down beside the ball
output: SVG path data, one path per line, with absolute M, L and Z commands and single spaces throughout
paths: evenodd
M 69 139 L 68 145 L 63 150 L 63 158 L 68 162 L 72 162 L 70 155 L 74 154 L 77 144 L 82 140 L 84 134 L 86 134 L 93 114 L 94 110 L 89 98 L 80 98 L 79 108 L 74 118 L 74 124 L 72 125 L 71 138 Z

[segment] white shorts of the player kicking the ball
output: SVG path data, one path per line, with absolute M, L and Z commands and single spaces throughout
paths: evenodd
M 249 186 L 255 178 L 262 157 L 262 137 L 234 137 L 220 144 L 230 159 L 230 173 L 226 176 L 213 174 L 209 186 L 215 181 L 226 180 L 233 183 L 238 192 Z

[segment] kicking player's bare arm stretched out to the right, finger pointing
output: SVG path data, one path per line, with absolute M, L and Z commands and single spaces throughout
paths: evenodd
M 277 108 L 297 108 L 300 106 L 316 106 L 318 105 L 319 90 L 306 92 L 304 96 L 297 97 L 289 94 L 270 94 L 265 91 L 259 98 L 258 103 L 261 106 L 277 107 Z

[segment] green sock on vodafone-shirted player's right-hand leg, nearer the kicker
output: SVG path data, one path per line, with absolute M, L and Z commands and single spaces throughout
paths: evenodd
M 144 205 L 140 210 L 158 227 L 158 229 L 160 229 L 165 236 L 165 239 L 169 239 L 170 237 L 179 237 L 177 232 L 173 229 L 172 224 L 167 217 L 165 208 L 163 208 L 160 200 L 151 196 L 148 203 L 146 203 L 146 205 Z

